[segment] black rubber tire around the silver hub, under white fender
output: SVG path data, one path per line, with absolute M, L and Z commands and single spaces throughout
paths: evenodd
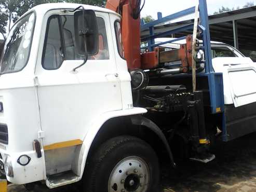
M 84 192 L 109 192 L 109 179 L 112 171 L 120 161 L 131 156 L 143 159 L 147 165 L 147 170 L 149 170 L 149 183 L 145 192 L 159 191 L 159 165 L 152 147 L 133 136 L 118 136 L 103 143 L 97 152 L 92 155 L 83 177 Z M 122 189 L 118 188 L 116 191 L 122 191 Z M 131 190 L 127 189 L 125 191 Z

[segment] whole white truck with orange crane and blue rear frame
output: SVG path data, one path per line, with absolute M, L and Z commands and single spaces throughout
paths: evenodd
M 207 163 L 217 140 L 256 130 L 255 63 L 213 66 L 206 0 L 143 25 L 141 7 L 43 4 L 12 26 L 0 70 L 0 171 L 8 182 L 159 191 L 161 159 L 174 169 L 180 158 Z M 154 33 L 192 13 L 193 23 Z M 155 43 L 188 29 L 192 35 Z M 181 39 L 180 48 L 160 46 Z

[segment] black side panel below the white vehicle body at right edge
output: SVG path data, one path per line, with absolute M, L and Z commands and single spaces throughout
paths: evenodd
M 225 105 L 226 141 L 256 131 L 256 102 L 239 107 Z

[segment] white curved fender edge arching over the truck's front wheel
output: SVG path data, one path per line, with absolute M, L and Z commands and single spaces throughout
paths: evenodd
M 84 138 L 84 141 L 82 144 L 82 148 L 79 153 L 77 170 L 75 172 L 78 173 L 80 179 L 82 179 L 82 176 L 84 173 L 85 163 L 87 160 L 87 156 L 88 156 L 91 144 L 92 144 L 93 140 L 95 139 L 95 136 L 99 132 L 100 128 L 102 127 L 102 125 L 107 120 L 115 118 L 115 117 L 138 115 L 138 114 L 144 114 L 146 112 L 147 112 L 147 110 L 145 108 L 133 107 L 131 109 L 125 109 L 125 110 L 104 113 L 97 118 L 97 121 L 93 122 L 93 124 L 90 126 L 89 131 L 85 135 L 85 138 Z

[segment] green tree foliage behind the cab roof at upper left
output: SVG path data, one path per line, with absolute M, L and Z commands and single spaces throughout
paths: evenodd
M 104 7 L 106 0 L 0 0 L 0 33 L 5 38 L 6 27 L 8 31 L 12 23 L 18 20 L 32 7 L 44 3 L 78 3 Z

